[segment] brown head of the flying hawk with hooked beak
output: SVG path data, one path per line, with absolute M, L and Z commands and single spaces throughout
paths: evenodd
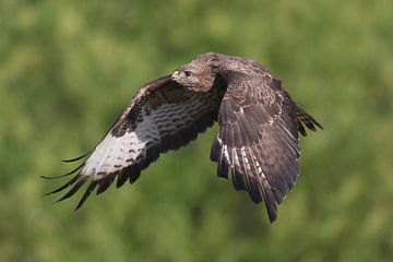
M 171 80 L 195 92 L 206 92 L 217 74 L 216 64 L 204 57 L 196 57 L 171 74 Z

